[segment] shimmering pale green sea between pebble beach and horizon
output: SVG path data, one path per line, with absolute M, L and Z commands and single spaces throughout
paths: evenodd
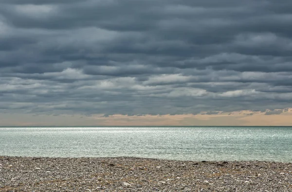
M 292 162 L 292 127 L 0 127 L 0 156 Z

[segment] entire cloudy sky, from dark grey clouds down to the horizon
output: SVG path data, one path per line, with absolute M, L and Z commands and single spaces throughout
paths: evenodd
M 291 0 L 0 0 L 0 125 L 292 125 Z

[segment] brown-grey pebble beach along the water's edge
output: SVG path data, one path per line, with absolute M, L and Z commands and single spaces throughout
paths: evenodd
M 292 192 L 292 163 L 1 157 L 1 192 Z

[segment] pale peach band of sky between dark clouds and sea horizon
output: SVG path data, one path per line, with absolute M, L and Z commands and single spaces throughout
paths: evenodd
M 197 115 L 31 115 L 0 114 L 0 126 L 292 126 L 292 109 L 283 113 L 236 111 Z

